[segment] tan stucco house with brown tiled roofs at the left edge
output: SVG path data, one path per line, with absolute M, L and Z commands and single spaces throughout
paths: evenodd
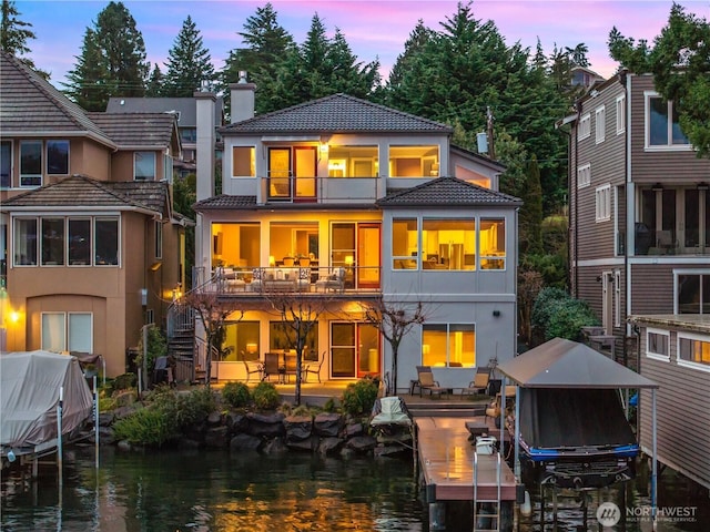
M 175 117 L 88 113 L 12 55 L 0 70 L 1 348 L 95 352 L 123 374 L 184 278 Z

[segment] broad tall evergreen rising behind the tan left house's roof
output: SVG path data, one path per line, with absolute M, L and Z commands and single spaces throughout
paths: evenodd
M 68 95 L 88 111 L 103 111 L 110 96 L 143 96 L 150 64 L 143 35 L 122 2 L 110 2 L 87 29 Z

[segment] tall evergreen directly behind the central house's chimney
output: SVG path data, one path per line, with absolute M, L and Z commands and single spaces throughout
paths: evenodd
M 220 78 L 222 88 L 236 83 L 240 71 L 246 71 L 248 81 L 256 83 L 261 91 L 266 83 L 276 83 L 278 64 L 288 61 L 290 53 L 296 45 L 293 37 L 278 23 L 277 13 L 271 3 L 257 8 L 246 19 L 244 31 L 237 33 L 246 48 L 234 49 L 225 61 Z M 229 100 L 225 102 L 229 110 Z M 266 98 L 257 98 L 255 111 L 264 113 L 271 110 Z

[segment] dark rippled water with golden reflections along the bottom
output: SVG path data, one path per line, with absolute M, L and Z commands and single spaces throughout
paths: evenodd
M 235 457 L 216 451 L 126 454 L 105 448 L 97 478 L 89 448 L 67 452 L 64 464 L 61 499 L 53 468 L 40 482 L 2 479 L 1 531 L 428 531 L 408 459 Z M 642 513 L 650 501 L 646 485 L 641 471 L 626 490 L 590 493 L 586 526 L 579 495 L 560 497 L 558 530 L 600 530 L 595 519 L 599 497 Z M 539 500 L 536 493 L 532 498 Z M 521 532 L 552 530 L 549 493 L 546 498 L 546 525 L 540 526 L 535 512 L 521 520 Z M 677 475 L 661 477 L 659 505 L 697 512 L 692 521 L 659 522 L 660 532 L 710 530 L 707 494 L 690 490 Z M 447 530 L 460 532 L 460 526 L 449 523 Z M 613 530 L 645 532 L 650 525 L 632 518 Z

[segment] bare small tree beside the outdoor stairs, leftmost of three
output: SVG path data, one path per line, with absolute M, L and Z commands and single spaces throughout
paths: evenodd
M 224 335 L 224 324 L 227 318 L 231 321 L 240 321 L 244 316 L 244 310 L 234 308 L 221 301 L 214 291 L 194 290 L 185 294 L 183 303 L 194 309 L 206 336 L 206 360 L 205 360 L 205 383 L 207 388 L 212 382 L 212 352 L 221 351 Z M 239 313 L 234 319 L 233 314 Z

